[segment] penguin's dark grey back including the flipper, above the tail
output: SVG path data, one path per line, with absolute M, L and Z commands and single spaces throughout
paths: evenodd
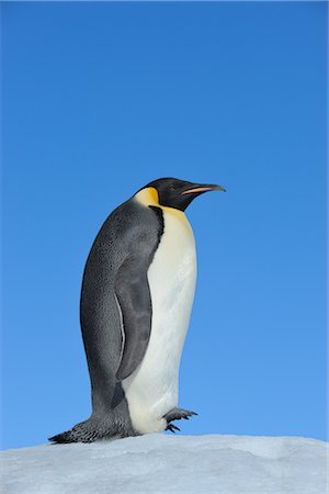
M 134 372 L 145 355 L 151 327 L 147 270 L 162 231 L 161 210 L 133 198 L 106 218 L 90 250 L 80 321 L 93 413 L 118 405 L 120 381 Z

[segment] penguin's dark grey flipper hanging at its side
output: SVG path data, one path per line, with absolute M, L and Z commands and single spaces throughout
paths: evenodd
M 143 252 L 141 252 L 143 254 Z M 128 378 L 141 362 L 151 332 L 151 297 L 147 280 L 148 259 L 128 257 L 115 279 L 115 295 L 122 313 L 124 348 L 116 379 Z

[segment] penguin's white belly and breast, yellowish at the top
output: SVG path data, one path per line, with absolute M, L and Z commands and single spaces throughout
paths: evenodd
M 184 213 L 164 209 L 164 232 L 148 270 L 152 303 L 150 340 L 136 371 L 123 381 L 133 426 L 163 430 L 162 418 L 178 405 L 181 353 L 196 279 L 195 243 Z

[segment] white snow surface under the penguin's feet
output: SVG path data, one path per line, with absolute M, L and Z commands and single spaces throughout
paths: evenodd
M 5 494 L 326 494 L 326 442 L 302 437 L 168 436 L 2 451 Z

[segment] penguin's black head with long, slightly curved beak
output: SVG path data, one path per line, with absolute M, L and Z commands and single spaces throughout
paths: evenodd
M 204 192 L 209 192 L 213 190 L 222 190 L 226 192 L 222 186 L 216 186 L 213 183 L 193 183 L 175 178 L 157 179 L 148 183 L 146 188 L 156 189 L 160 205 L 174 207 L 180 211 L 185 211 L 193 199 Z

